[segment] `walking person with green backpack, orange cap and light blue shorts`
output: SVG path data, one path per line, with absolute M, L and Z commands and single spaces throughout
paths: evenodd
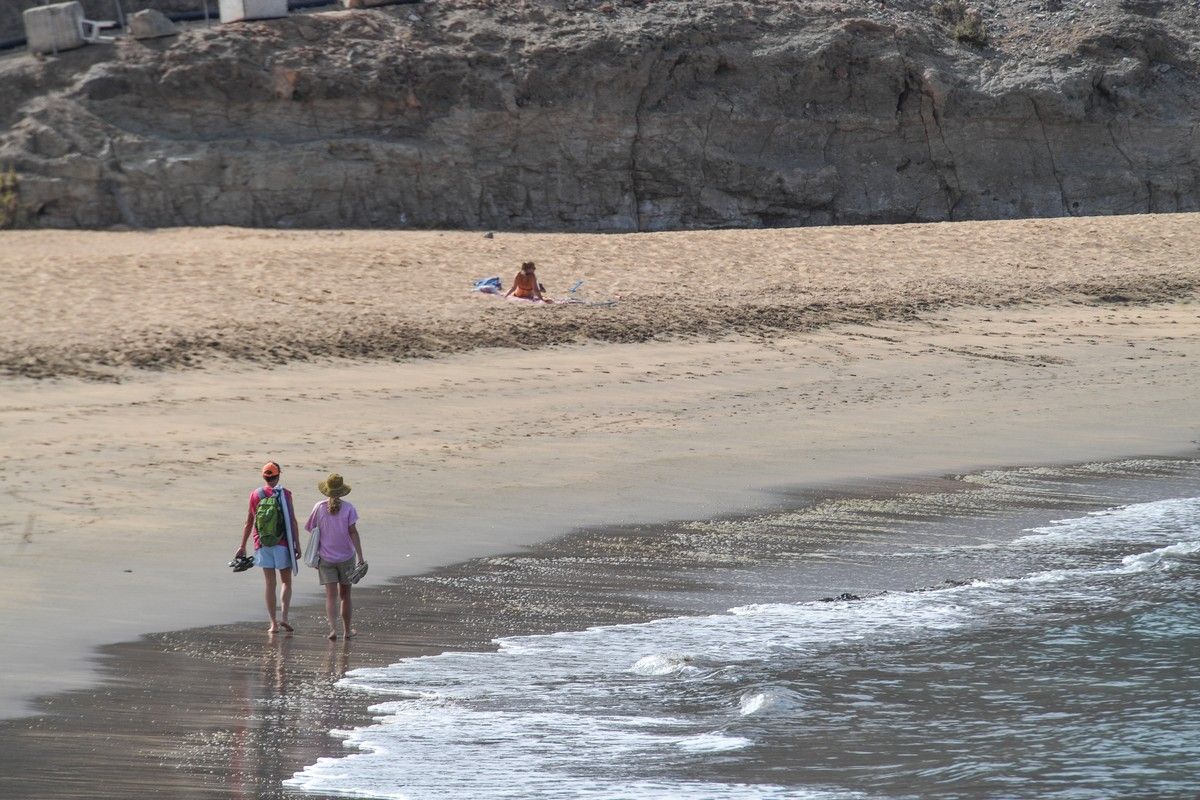
M 288 622 L 288 607 L 292 604 L 292 567 L 300 563 L 300 543 L 293 541 L 295 548 L 295 561 L 288 551 L 288 536 L 284 525 L 284 515 L 292 522 L 293 533 L 296 530 L 295 511 L 292 506 L 292 492 L 283 489 L 282 493 L 276 487 L 280 485 L 280 465 L 269 461 L 263 464 L 263 486 L 250 493 L 250 510 L 246 512 L 246 524 L 241 529 L 241 545 L 235 555 L 246 554 L 246 541 L 254 534 L 254 566 L 262 567 L 263 578 L 266 581 L 266 615 L 271 619 L 268 633 L 277 633 L 282 627 L 284 631 L 294 628 Z M 283 505 L 278 503 L 282 494 Z M 264 500 L 270 500 L 264 505 L 263 513 L 259 513 L 259 505 Z M 259 524 L 270 525 L 271 530 L 259 530 Z M 295 536 L 293 536 L 295 539 Z M 275 572 L 278 570 L 280 583 L 283 585 L 280 591 L 280 606 L 282 613 L 280 620 L 275 621 Z

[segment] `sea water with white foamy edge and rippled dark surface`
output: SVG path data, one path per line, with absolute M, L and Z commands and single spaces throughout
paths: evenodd
M 1200 498 L 892 560 L 990 577 L 360 669 L 344 681 L 379 700 L 376 723 L 338 732 L 347 754 L 286 786 L 480 800 L 1200 795 Z

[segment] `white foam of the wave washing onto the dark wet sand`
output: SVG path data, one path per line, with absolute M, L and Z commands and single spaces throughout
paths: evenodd
M 414 799 L 863 796 L 678 776 L 703 774 L 713 753 L 751 752 L 754 733 L 738 726 L 770 715 L 803 716 L 799 692 L 761 684 L 745 688 L 742 676 L 775 658 L 803 663 L 839 648 L 925 642 L 1066 603 L 1103 606 L 1109 601 L 1104 579 L 1169 570 L 1200 552 L 1200 542 L 1158 541 L 1177 535 L 1186 515 L 1194 519 L 1200 501 L 1130 509 L 1062 521 L 1020 540 L 1020 547 L 1048 552 L 1084 540 L 1162 545 L 1085 569 L 862 601 L 758 603 L 724 614 L 510 637 L 496 642 L 496 652 L 451 652 L 359 669 L 347 675 L 346 685 L 392 699 L 372 706 L 373 726 L 346 738 L 354 752 L 320 759 L 287 786 Z M 685 692 L 690 698 L 704 687 L 712 690 L 706 698 L 718 698 L 710 706 L 676 711 L 679 704 L 672 698 Z M 856 702 L 876 704 L 866 696 Z

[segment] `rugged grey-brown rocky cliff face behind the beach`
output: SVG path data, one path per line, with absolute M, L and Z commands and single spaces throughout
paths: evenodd
M 439 0 L 0 61 L 36 224 L 658 230 L 1200 209 L 1200 14 Z

